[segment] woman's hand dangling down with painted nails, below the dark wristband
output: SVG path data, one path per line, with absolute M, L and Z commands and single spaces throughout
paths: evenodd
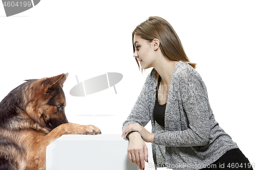
M 139 166 L 139 169 L 145 169 L 144 160 L 148 163 L 147 147 L 138 132 L 129 135 L 128 157 L 131 162 Z

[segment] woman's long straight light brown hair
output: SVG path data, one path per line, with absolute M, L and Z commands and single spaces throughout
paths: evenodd
M 160 49 L 165 57 L 173 61 L 183 61 L 196 68 L 195 63 L 191 63 L 187 58 L 185 51 L 183 50 L 182 43 L 174 31 L 173 27 L 168 21 L 158 16 L 151 16 L 140 25 L 138 25 L 133 31 L 134 35 L 138 34 L 141 38 L 148 40 L 149 42 L 157 38 L 160 41 Z M 133 52 L 135 52 L 135 46 L 133 45 Z M 136 62 L 140 68 L 139 62 Z M 142 68 L 141 68 L 142 70 Z

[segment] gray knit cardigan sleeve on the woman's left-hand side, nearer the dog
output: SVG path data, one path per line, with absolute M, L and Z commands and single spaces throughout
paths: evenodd
M 148 101 L 148 79 L 150 79 L 150 75 L 148 75 L 131 113 L 123 123 L 122 131 L 129 124 L 139 123 L 141 126 L 144 127 L 148 122 L 150 122 L 150 104 Z

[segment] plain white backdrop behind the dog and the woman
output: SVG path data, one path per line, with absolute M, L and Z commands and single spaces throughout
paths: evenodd
M 256 163 L 255 1 L 42 0 L 11 17 L 0 5 L 0 16 L 1 100 L 23 80 L 69 72 L 63 88 L 69 122 L 120 135 L 151 70 L 141 74 L 137 67 L 132 31 L 149 16 L 163 17 L 198 63 L 217 122 Z M 80 98 L 69 94 L 75 75 L 81 82 L 105 72 L 123 75 L 117 94 L 113 87 Z

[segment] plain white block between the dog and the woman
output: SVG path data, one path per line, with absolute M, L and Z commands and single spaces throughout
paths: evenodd
M 138 170 L 128 159 L 129 141 L 121 135 L 63 135 L 46 150 L 47 170 Z

